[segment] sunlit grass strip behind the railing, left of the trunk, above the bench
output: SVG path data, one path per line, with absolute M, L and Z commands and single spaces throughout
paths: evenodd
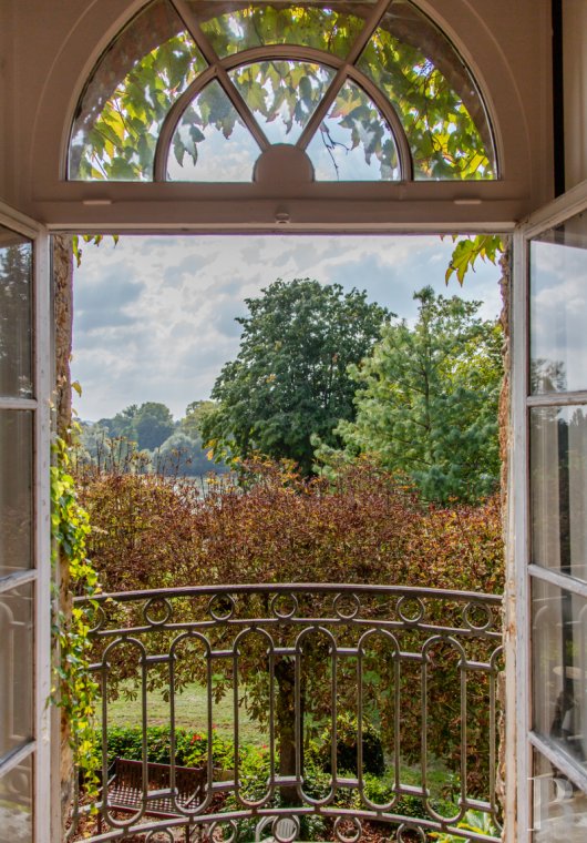
M 109 702 L 109 725 L 140 725 L 142 718 L 141 695 L 127 699 L 130 685 L 123 687 L 123 692 L 117 700 Z M 198 684 L 186 685 L 182 693 L 175 698 L 175 725 L 193 729 L 195 732 L 206 732 L 207 723 L 207 698 L 206 689 Z M 233 695 L 227 694 L 220 702 L 213 702 L 212 722 L 218 734 L 223 738 L 231 738 L 233 732 Z M 153 691 L 147 695 L 147 725 L 169 724 L 169 702 L 163 698 L 162 691 Z M 101 723 L 102 707 L 97 705 L 97 721 Z M 239 735 L 243 743 L 261 745 L 267 743 L 265 730 L 250 720 L 244 707 L 239 708 Z

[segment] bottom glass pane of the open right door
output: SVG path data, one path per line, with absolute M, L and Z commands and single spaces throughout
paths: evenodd
M 534 751 L 534 843 L 585 843 L 587 795 Z

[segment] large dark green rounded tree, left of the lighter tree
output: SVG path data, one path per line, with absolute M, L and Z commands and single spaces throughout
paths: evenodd
M 333 428 L 354 417 L 348 367 L 369 353 L 389 314 L 364 292 L 310 278 L 278 280 L 261 293 L 237 319 L 240 351 L 214 385 L 218 404 L 202 419 L 203 437 L 217 455 L 260 451 L 309 475 L 312 435 L 339 445 Z

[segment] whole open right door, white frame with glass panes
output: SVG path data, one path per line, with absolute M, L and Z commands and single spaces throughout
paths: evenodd
M 512 339 L 512 839 L 578 843 L 587 840 L 587 184 L 516 232 Z

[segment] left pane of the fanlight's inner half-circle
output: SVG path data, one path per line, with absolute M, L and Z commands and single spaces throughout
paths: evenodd
M 228 95 L 210 82 L 185 110 L 167 160 L 172 181 L 250 182 L 259 148 Z

